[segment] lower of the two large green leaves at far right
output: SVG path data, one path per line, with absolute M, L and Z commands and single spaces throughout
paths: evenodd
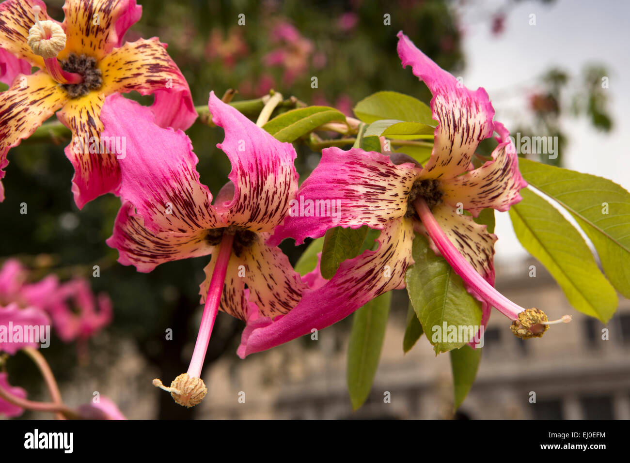
M 575 309 L 606 323 L 617 308 L 617 294 L 580 233 L 536 193 L 524 188 L 520 195 L 523 200 L 510 208 L 518 241 L 546 266 Z

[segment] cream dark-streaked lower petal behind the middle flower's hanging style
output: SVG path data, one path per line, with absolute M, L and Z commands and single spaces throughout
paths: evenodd
M 221 297 L 221 310 L 246 319 L 248 303 L 258 307 L 258 314 L 263 317 L 276 317 L 286 314 L 297 305 L 306 289 L 299 273 L 293 270 L 289 258 L 280 248 L 267 246 L 265 240 L 269 234 L 261 233 L 255 243 L 241 249 L 239 255 L 232 251 L 224 292 Z M 200 285 L 202 304 L 210 287 L 214 272 L 215 258 L 206 266 L 206 278 Z M 249 292 L 245 297 L 245 285 Z

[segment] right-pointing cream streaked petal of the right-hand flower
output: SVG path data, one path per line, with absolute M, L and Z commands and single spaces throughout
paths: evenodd
M 527 186 L 518 171 L 518 155 L 503 124 L 495 122 L 499 145 L 492 152 L 494 161 L 442 183 L 444 200 L 456 207 L 458 202 L 475 217 L 482 209 L 493 207 L 505 212 L 522 198 L 518 191 Z

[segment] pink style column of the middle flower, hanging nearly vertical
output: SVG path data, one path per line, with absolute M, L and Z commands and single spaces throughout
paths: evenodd
M 205 298 L 205 306 L 203 306 L 203 315 L 199 327 L 199 334 L 197 335 L 197 342 L 195 343 L 195 350 L 193 351 L 193 356 L 188 366 L 188 375 L 193 378 L 198 378 L 201 375 L 203 360 L 205 359 L 205 353 L 208 350 L 208 343 L 210 342 L 210 335 L 212 334 L 217 312 L 219 312 L 219 302 L 221 302 L 221 295 L 223 294 L 227 264 L 232 254 L 233 243 L 234 234 L 225 232 L 221 239 L 221 244 L 219 244 L 217 263 L 214 266 L 212 278 L 210 278 L 210 288 Z

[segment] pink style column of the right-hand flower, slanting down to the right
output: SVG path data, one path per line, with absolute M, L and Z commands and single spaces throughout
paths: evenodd
M 416 198 L 413 203 L 418 216 L 422 220 L 425 229 L 427 229 L 428 235 L 435 243 L 442 256 L 449 263 L 449 265 L 455 270 L 457 275 L 468 283 L 481 297 L 487 300 L 491 306 L 495 307 L 503 315 L 507 316 L 510 320 L 516 320 L 520 312 L 525 311 L 524 307 L 515 304 L 503 294 L 498 292 L 492 287 L 492 285 L 484 280 L 481 275 L 474 269 L 469 261 L 462 256 L 459 251 L 450 242 L 450 239 L 440 225 L 433 217 L 431 210 L 429 209 L 427 202 L 422 197 Z

